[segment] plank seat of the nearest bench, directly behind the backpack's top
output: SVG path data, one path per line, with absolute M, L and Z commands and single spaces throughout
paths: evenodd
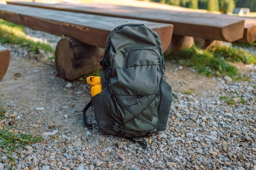
M 159 33 L 165 51 L 171 42 L 172 24 L 113 18 L 85 13 L 0 4 L 0 18 L 54 35 L 68 35 L 85 44 L 104 48 L 108 34 L 121 24 L 140 23 Z

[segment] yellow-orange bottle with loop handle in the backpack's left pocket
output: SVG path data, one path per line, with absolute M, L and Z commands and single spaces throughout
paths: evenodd
M 97 95 L 98 93 L 101 93 L 102 91 L 101 77 L 92 75 L 90 77 L 87 77 L 86 81 L 88 82 L 88 84 L 92 85 L 92 88 L 91 88 L 92 97 L 94 95 Z

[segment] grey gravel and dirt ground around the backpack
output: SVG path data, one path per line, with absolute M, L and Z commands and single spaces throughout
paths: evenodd
M 53 45 L 60 39 L 27 32 Z M 47 55 L 43 51 L 34 55 L 2 45 L 12 50 L 12 57 L 0 83 L 7 110 L 0 128 L 45 140 L 11 153 L 0 148 L 0 170 L 11 165 L 17 170 L 256 170 L 254 65 L 243 65 L 247 81 L 234 81 L 202 77 L 167 63 L 167 81 L 175 96 L 168 125 L 146 138 L 148 147 L 143 149 L 128 139 L 104 135 L 93 112 L 88 114 L 93 129 L 83 126 L 82 109 L 90 100 L 85 78 L 61 79 L 54 64 L 40 61 Z M 227 104 L 223 96 L 235 104 Z

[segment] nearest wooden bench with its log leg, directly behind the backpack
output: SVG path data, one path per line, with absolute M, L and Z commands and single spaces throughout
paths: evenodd
M 139 23 L 159 33 L 163 50 L 171 42 L 172 24 L 113 18 L 85 13 L 56 11 L 13 4 L 0 4 L 0 18 L 34 30 L 62 36 L 55 51 L 58 74 L 76 79 L 92 73 L 103 57 L 106 40 L 112 29 L 121 24 Z

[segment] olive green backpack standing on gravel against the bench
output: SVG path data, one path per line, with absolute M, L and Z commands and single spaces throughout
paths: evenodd
M 85 113 L 92 104 L 97 125 L 106 134 L 135 139 L 165 130 L 172 88 L 165 81 L 159 35 L 143 24 L 117 26 L 100 64 L 103 90 L 85 107 L 85 125 L 92 126 Z

